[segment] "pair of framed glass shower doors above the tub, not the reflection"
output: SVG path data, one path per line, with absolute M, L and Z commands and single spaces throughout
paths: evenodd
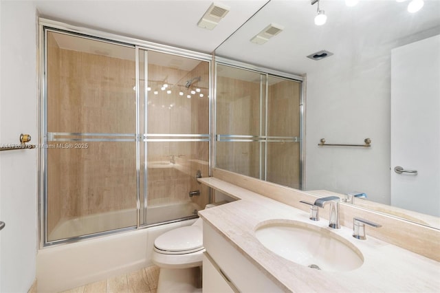
M 45 29 L 45 245 L 208 204 L 208 60 Z

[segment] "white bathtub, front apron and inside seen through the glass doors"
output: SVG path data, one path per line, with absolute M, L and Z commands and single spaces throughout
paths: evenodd
M 186 215 L 192 215 L 194 209 L 199 210 L 198 207 L 197 204 L 186 202 L 185 208 L 190 211 Z M 168 213 L 166 215 L 168 217 L 169 213 L 174 211 L 175 217 L 179 218 L 181 214 L 177 211 L 182 208 L 181 204 L 152 206 L 148 208 L 148 214 L 165 217 Z M 123 219 L 124 217 L 120 215 L 120 221 L 127 221 L 125 222 L 129 223 L 127 226 L 133 225 L 133 217 L 135 217 L 133 210 L 123 210 L 118 213 L 127 218 Z M 68 229 L 78 229 L 78 227 L 87 229 L 87 225 L 96 225 L 94 228 L 104 229 L 106 221 L 114 221 L 110 214 L 85 217 L 81 221 L 67 220 L 57 226 L 52 233 L 65 235 Z M 100 217 L 102 218 L 97 219 Z M 196 219 L 188 219 L 43 248 L 36 256 L 37 292 L 61 292 L 152 265 L 155 239 L 168 230 L 190 226 L 195 221 Z

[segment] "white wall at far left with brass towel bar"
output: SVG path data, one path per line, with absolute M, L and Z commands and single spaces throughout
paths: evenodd
M 36 9 L 0 1 L 0 144 L 38 142 Z M 0 153 L 0 292 L 27 292 L 36 276 L 36 150 Z

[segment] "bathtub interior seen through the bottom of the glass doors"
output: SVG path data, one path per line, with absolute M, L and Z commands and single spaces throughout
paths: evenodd
M 148 206 L 146 223 L 157 224 L 173 219 L 189 217 L 194 215 L 194 210 L 200 210 L 200 207 L 193 202 Z M 144 217 L 143 211 L 144 210 L 141 210 L 141 223 Z M 48 239 L 50 241 L 68 239 L 80 235 L 89 235 L 95 232 L 136 226 L 136 223 L 137 211 L 135 208 L 87 215 L 80 218 L 63 219 L 54 227 L 52 232 L 50 232 Z

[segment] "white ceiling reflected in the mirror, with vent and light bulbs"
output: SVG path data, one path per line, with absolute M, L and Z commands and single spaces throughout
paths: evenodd
M 217 56 L 260 65 L 281 72 L 304 74 L 376 60 L 393 47 L 440 34 L 440 1 L 425 0 L 415 14 L 406 10 L 408 0 L 364 0 L 347 7 L 342 0 L 321 0 L 327 23 L 314 24 L 316 4 L 308 0 L 272 0 L 217 50 Z M 283 32 L 264 45 L 250 42 L 270 23 L 283 25 Z M 334 55 L 321 61 L 306 58 L 328 50 Z

